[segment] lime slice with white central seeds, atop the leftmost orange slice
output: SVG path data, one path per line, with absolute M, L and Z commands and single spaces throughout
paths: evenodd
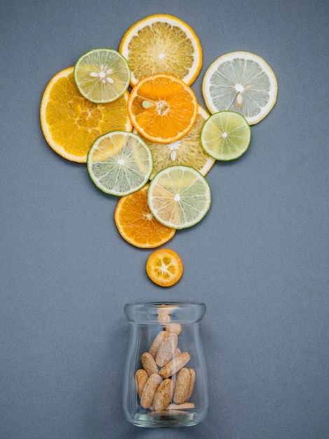
M 84 53 L 74 66 L 81 95 L 97 104 L 118 99 L 130 83 L 130 67 L 116 50 L 99 48 Z

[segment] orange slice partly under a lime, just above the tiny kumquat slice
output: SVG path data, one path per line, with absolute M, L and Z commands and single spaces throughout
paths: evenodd
M 155 248 L 172 239 L 175 229 L 153 217 L 147 204 L 148 184 L 133 194 L 122 196 L 116 205 L 114 221 L 120 235 L 139 248 Z

